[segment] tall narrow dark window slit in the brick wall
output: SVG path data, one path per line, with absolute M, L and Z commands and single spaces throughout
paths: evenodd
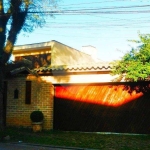
M 25 104 L 31 104 L 31 81 L 26 81 Z

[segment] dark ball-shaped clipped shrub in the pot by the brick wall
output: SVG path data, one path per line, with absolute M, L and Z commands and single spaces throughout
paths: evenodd
M 35 110 L 30 114 L 30 119 L 32 120 L 32 122 L 41 122 L 44 119 L 44 115 L 42 111 Z

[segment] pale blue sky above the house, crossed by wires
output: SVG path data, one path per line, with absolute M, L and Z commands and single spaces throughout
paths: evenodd
M 150 33 L 150 0 L 60 0 L 60 13 L 42 28 L 20 33 L 16 45 L 56 40 L 81 50 L 94 46 L 104 61 L 120 59 L 135 46 L 138 33 Z

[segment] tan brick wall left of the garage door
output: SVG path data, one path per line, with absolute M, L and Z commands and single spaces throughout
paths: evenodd
M 31 104 L 25 104 L 26 81 L 31 82 Z M 14 99 L 14 90 L 19 97 Z M 53 129 L 53 95 L 51 83 L 35 76 L 18 76 L 8 80 L 7 90 L 7 126 L 31 127 L 30 113 L 40 109 L 44 113 L 44 129 Z

